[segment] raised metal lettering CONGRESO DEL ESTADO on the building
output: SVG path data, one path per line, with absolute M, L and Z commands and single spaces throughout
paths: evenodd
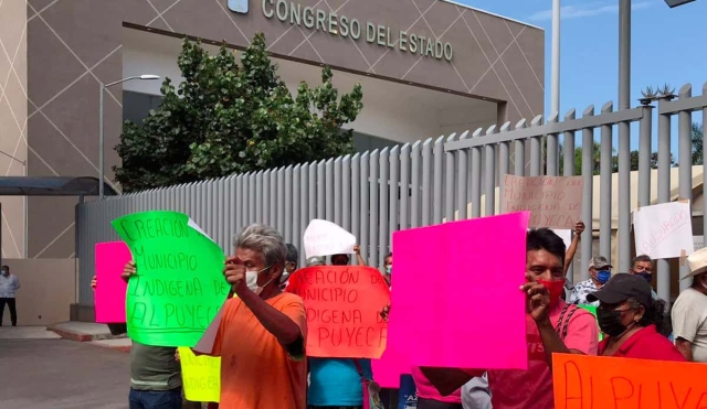
M 262 0 L 263 14 L 267 19 L 276 18 L 282 22 L 294 25 L 304 25 L 310 30 L 328 32 L 333 35 L 359 40 L 365 37 L 371 44 L 378 44 L 389 49 L 395 46 L 403 52 L 419 54 L 424 57 L 452 61 L 454 50 L 452 44 L 443 43 L 432 36 L 428 37 L 403 30 L 393 30 L 382 24 L 372 22 L 361 23 L 357 19 L 346 15 L 337 15 L 334 12 L 302 7 L 302 4 L 287 0 Z M 398 43 L 395 45 L 395 42 Z

